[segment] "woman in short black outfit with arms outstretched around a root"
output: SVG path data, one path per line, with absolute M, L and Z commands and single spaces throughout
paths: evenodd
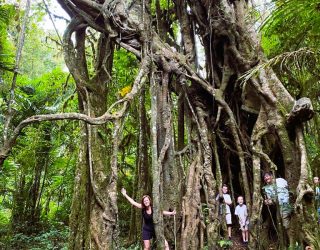
M 135 207 L 142 209 L 142 217 L 143 217 L 143 226 L 142 226 L 142 240 L 143 240 L 143 249 L 149 250 L 151 247 L 150 240 L 155 237 L 155 230 L 153 224 L 153 210 L 152 210 L 152 201 L 149 195 L 144 195 L 141 199 L 141 203 L 133 200 L 129 195 L 127 195 L 127 191 L 122 188 L 121 193 L 123 196 Z M 164 215 L 175 215 L 176 211 L 163 211 Z M 169 244 L 167 240 L 165 240 L 165 250 L 169 250 Z

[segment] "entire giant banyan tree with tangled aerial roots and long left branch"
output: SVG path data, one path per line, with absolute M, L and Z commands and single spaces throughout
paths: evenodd
M 168 207 L 178 212 L 177 249 L 217 248 L 224 220 L 219 219 L 215 197 L 223 183 L 234 197 L 241 194 L 246 200 L 250 248 L 267 249 L 271 242 L 279 249 L 295 244 L 319 247 L 303 135 L 312 105 L 307 98 L 295 100 L 270 67 L 241 78 L 266 60 L 247 15 L 250 1 L 58 2 L 71 18 L 63 46 L 80 114 L 31 117 L 13 137 L 35 121 L 85 121 L 70 249 L 119 247 L 117 155 L 133 100 L 139 105 L 135 195 L 152 191 L 159 249 L 164 237 L 173 242 L 173 234 L 167 235 L 173 224 L 161 213 Z M 86 47 L 92 32 L 99 38 L 94 41 L 94 70 L 89 71 Z M 113 53 L 119 47 L 133 54 L 140 66 L 134 82 L 128 83 L 131 91 L 108 104 Z M 1 151 L 2 160 L 13 143 L 14 138 Z M 294 213 L 288 230 L 280 220 L 268 219 L 263 171 L 273 171 L 289 183 Z M 277 228 L 270 233 L 273 222 Z

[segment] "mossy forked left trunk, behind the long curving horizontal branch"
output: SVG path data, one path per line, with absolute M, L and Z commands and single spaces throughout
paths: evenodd
M 80 112 L 98 117 L 107 110 L 113 43 L 104 34 L 99 35 L 97 54 L 93 54 L 94 72 L 89 74 L 86 30 L 83 20 L 74 17 L 64 35 L 64 52 L 76 82 Z M 75 45 L 71 39 L 73 34 Z M 121 124 L 115 121 L 113 128 L 111 135 L 105 125 L 81 125 L 82 138 L 70 217 L 70 249 L 112 249 L 118 243 L 116 164 Z

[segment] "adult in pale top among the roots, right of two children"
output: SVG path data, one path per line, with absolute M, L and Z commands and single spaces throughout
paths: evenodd
M 283 178 L 276 178 L 274 180 L 271 172 L 264 173 L 263 179 L 266 183 L 262 188 L 266 197 L 264 204 L 267 206 L 279 204 L 282 225 L 285 229 L 288 229 L 292 212 L 292 207 L 289 203 L 288 183 Z

